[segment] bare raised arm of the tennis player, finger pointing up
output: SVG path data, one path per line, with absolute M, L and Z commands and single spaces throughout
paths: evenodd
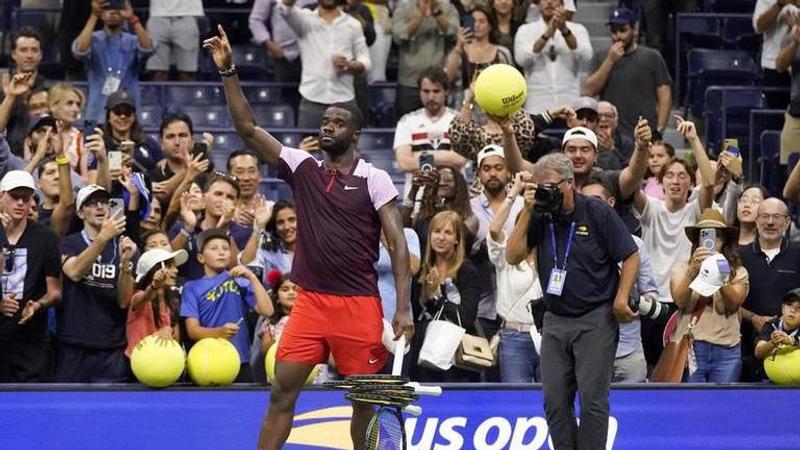
M 214 63 L 220 69 L 222 85 L 225 89 L 225 99 L 228 102 L 228 111 L 233 117 L 236 132 L 247 145 L 255 150 L 267 164 L 278 163 L 283 144 L 256 124 L 255 114 L 242 92 L 239 77 L 233 64 L 231 44 L 222 25 L 217 26 L 219 36 L 214 36 L 203 41 L 203 48 L 211 53 Z

